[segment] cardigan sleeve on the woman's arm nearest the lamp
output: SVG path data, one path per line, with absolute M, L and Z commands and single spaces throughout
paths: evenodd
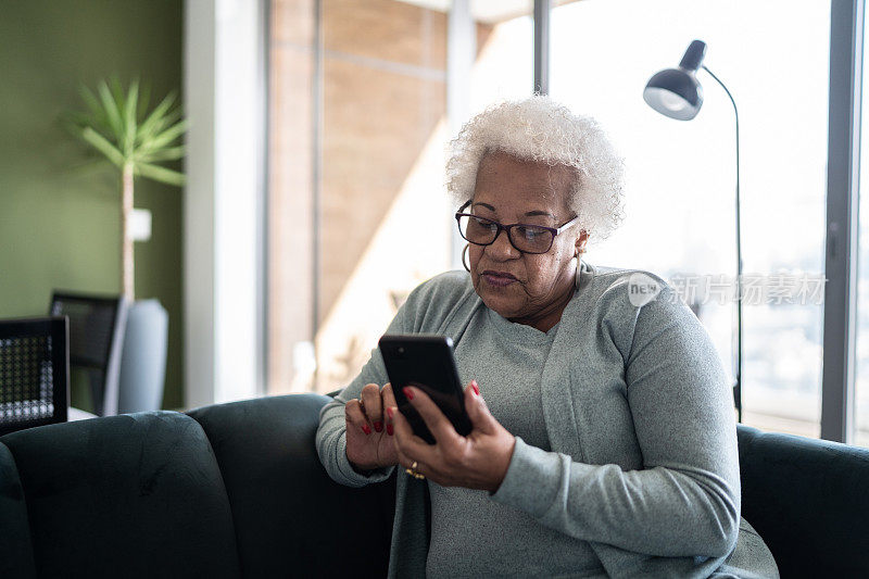
M 725 556 L 739 533 L 739 455 L 715 345 L 666 286 L 640 307 L 629 343 L 626 395 L 643 468 L 575 462 L 517 437 L 491 499 L 581 540 L 656 556 Z

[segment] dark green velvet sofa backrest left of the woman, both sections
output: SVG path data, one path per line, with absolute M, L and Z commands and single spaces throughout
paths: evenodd
M 292 394 L 0 437 L 0 577 L 385 576 L 394 477 L 350 489 Z

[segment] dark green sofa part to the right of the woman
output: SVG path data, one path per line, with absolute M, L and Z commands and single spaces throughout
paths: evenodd
M 782 577 L 869 574 L 869 450 L 739 425 L 742 515 Z

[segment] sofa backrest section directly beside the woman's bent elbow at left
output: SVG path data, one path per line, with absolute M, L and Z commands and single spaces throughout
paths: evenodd
M 329 478 L 314 437 L 330 400 L 287 394 L 188 412 L 223 473 L 244 577 L 387 575 L 394 476 L 361 489 Z

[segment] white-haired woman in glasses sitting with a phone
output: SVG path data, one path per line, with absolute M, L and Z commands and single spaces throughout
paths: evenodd
M 505 102 L 465 125 L 448 173 L 467 272 L 414 289 L 387 333 L 453 339 L 474 429 L 407 387 L 436 443 L 415 436 L 374 350 L 316 436 L 342 484 L 400 467 L 389 576 L 777 576 L 740 517 L 708 333 L 660 277 L 582 259 L 621 218 L 601 128 L 546 97 Z M 658 293 L 638 300 L 638 279 Z

